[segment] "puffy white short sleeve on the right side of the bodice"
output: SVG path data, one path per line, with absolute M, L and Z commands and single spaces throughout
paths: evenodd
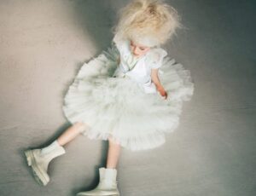
M 148 51 L 146 63 L 151 69 L 158 69 L 163 64 L 164 57 L 167 55 L 165 49 L 151 49 Z

